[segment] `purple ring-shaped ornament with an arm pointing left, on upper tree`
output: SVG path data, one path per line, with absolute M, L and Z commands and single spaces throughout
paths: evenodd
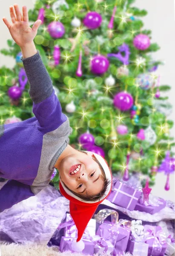
M 118 58 L 121 62 L 123 62 L 123 65 L 128 65 L 130 55 L 128 44 L 124 43 L 120 47 L 118 47 L 118 49 L 118 53 L 108 53 L 108 57 Z M 122 55 L 122 52 L 124 53 L 124 56 Z

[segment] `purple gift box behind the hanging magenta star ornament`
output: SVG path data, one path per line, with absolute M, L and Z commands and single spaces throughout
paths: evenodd
M 156 212 L 160 212 L 161 209 L 164 209 L 166 206 L 166 201 L 162 198 L 154 197 L 153 195 L 149 195 L 149 205 L 143 204 L 141 199 L 138 200 L 135 210 L 139 212 L 148 212 L 150 214 L 155 214 Z

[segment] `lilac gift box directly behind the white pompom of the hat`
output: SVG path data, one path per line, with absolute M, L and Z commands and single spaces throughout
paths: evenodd
M 90 241 L 89 239 L 82 239 L 82 240 L 85 244 L 85 248 L 83 249 L 82 253 L 93 255 L 94 254 L 94 246 L 95 246 L 94 243 L 92 241 Z M 73 237 L 62 236 L 61 242 L 60 242 L 60 251 L 62 253 L 65 251 L 71 251 L 72 253 L 75 253 L 75 251 L 72 250 L 72 247 L 71 247 L 72 241 L 74 241 Z

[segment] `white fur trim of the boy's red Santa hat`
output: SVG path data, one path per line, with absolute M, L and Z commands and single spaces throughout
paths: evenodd
M 84 151 L 84 150 L 83 150 Z M 110 173 L 110 170 L 109 170 L 109 166 L 106 164 L 105 160 L 103 159 L 103 157 L 101 157 L 99 154 L 96 154 L 94 152 L 91 152 L 91 151 L 85 151 L 85 152 L 90 152 L 90 153 L 93 153 L 95 155 L 95 157 L 97 158 L 98 162 L 100 163 L 100 165 L 102 166 L 104 172 L 105 172 L 105 175 L 106 175 L 106 178 L 110 181 L 112 181 L 111 179 L 111 173 Z M 71 191 L 69 191 L 69 189 L 67 189 L 63 182 L 60 180 L 60 183 L 61 185 L 63 186 L 63 189 L 65 190 L 65 192 L 72 196 L 73 198 L 77 199 L 78 201 L 81 201 L 81 202 L 84 202 L 83 199 L 79 198 L 77 195 L 74 195 Z M 111 186 L 112 186 L 112 182 L 109 183 L 107 189 L 106 189 L 106 193 L 103 195 L 103 197 L 100 198 L 99 201 L 103 200 L 108 194 L 109 194 L 109 191 L 111 189 Z M 93 204 L 93 203 L 97 203 L 97 200 L 96 201 L 86 201 L 87 204 Z

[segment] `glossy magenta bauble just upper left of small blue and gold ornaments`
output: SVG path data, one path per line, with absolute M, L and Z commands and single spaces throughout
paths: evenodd
M 115 94 L 113 103 L 115 108 L 119 108 L 121 111 L 127 111 L 132 108 L 134 101 L 131 94 L 123 91 Z

